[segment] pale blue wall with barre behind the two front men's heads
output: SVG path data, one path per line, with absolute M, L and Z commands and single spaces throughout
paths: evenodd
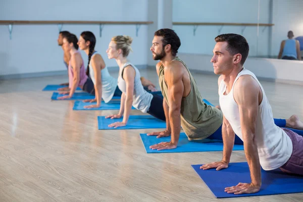
M 270 0 L 260 1 L 260 23 L 269 23 Z M 173 0 L 173 22 L 226 22 L 226 23 L 257 23 L 258 0 Z M 215 45 L 214 38 L 223 33 L 238 33 L 244 27 L 224 26 L 198 26 L 193 36 L 193 26 L 174 25 L 173 29 L 181 39 L 180 53 L 212 54 Z M 249 56 L 268 54 L 267 27 L 263 32 L 260 27 L 259 37 L 257 27 L 247 26 L 243 36 L 250 45 Z M 258 50 L 257 50 L 258 43 Z

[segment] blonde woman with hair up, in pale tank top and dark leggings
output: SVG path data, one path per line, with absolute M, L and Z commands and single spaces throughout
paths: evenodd
M 115 122 L 109 127 L 121 127 L 127 124 L 132 106 L 143 113 L 148 113 L 165 121 L 163 97 L 147 92 L 141 83 L 139 70 L 132 65 L 127 56 L 131 51 L 132 38 L 129 36 L 115 36 L 112 38 L 107 54 L 109 59 L 116 59 L 119 66 L 118 87 L 122 91 L 120 112 L 106 118 L 121 118 L 122 122 Z

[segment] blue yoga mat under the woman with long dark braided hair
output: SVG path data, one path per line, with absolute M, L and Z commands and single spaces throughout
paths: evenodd
M 101 102 L 99 108 L 85 109 L 84 106 L 95 105 L 96 103 L 83 103 L 83 101 L 75 101 L 73 110 L 120 110 L 120 100 L 111 100 L 108 103 Z M 134 107 L 131 108 L 135 110 Z

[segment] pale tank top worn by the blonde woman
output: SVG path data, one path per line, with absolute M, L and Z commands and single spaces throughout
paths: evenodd
M 136 72 L 135 75 L 135 83 L 134 83 L 134 95 L 133 95 L 133 107 L 137 110 L 140 110 L 143 113 L 146 113 L 149 110 L 151 99 L 153 99 L 153 95 L 144 90 L 143 85 L 140 80 L 140 72 L 139 70 L 131 63 L 126 62 L 124 66 L 119 71 L 118 77 L 118 87 L 123 92 L 126 93 L 126 82 L 122 78 L 123 70 L 126 66 L 131 65 Z

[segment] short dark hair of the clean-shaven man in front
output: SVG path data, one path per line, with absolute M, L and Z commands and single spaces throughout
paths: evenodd
M 231 56 L 236 54 L 241 54 L 242 59 L 240 64 L 243 65 L 249 52 L 249 45 L 246 39 L 239 34 L 221 34 L 215 38 L 216 42 L 224 42 L 228 43 L 226 47 L 226 51 L 229 52 Z

